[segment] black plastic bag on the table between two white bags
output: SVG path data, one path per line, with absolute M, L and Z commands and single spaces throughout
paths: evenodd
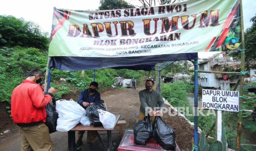
M 102 123 L 100 122 L 98 109 L 102 109 L 104 111 L 106 110 L 104 104 L 102 103 L 92 104 L 86 108 L 86 116 L 90 119 L 91 123 L 95 127 L 102 126 Z

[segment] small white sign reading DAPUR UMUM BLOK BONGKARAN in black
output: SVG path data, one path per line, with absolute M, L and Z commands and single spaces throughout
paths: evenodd
M 238 91 L 203 89 L 202 95 L 203 108 L 239 112 Z

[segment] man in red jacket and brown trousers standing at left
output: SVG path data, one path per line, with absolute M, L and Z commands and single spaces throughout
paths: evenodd
M 21 150 L 52 150 L 52 141 L 45 125 L 45 106 L 56 93 L 50 88 L 46 95 L 38 83 L 43 72 L 32 69 L 27 78 L 14 90 L 11 98 L 11 115 L 21 135 Z

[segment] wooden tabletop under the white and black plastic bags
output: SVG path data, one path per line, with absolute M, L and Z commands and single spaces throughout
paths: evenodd
M 121 117 L 121 114 L 119 114 L 117 116 L 116 119 L 116 123 L 115 123 L 115 127 L 117 125 L 117 122 L 119 120 L 119 118 Z M 75 126 L 73 129 L 71 129 L 70 131 L 113 131 L 115 129 L 115 127 L 113 127 L 112 129 L 105 129 L 103 126 L 100 127 L 94 127 L 93 125 L 90 126 L 84 126 L 81 124 L 78 124 L 77 126 Z

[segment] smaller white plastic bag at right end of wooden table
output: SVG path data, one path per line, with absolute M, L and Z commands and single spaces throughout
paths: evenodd
M 110 112 L 104 111 L 102 109 L 98 109 L 100 122 L 102 123 L 105 129 L 111 129 L 115 127 L 116 124 L 116 116 Z

